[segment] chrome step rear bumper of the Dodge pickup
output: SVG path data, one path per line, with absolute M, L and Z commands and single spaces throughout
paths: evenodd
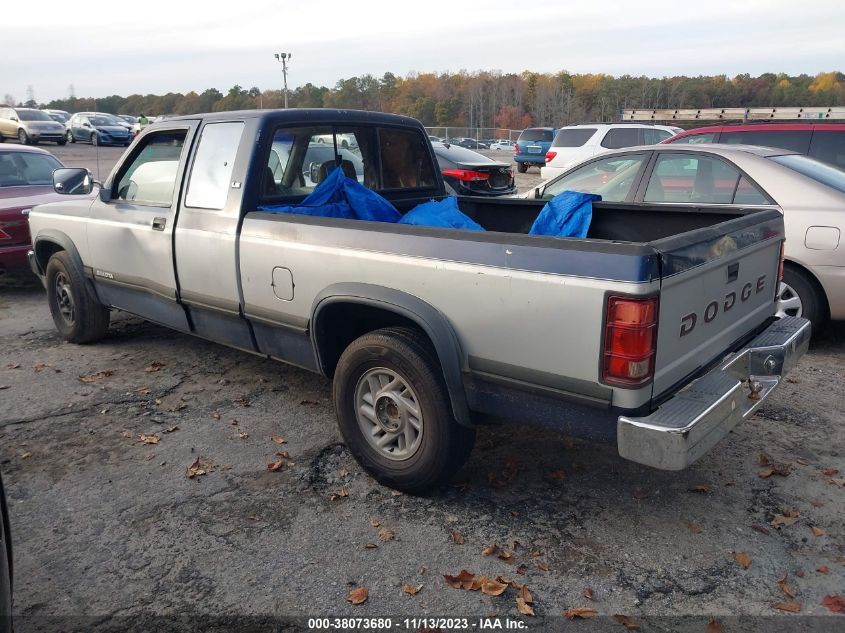
M 619 455 L 661 470 L 686 468 L 757 410 L 807 351 L 810 332 L 806 319 L 779 319 L 651 415 L 619 416 Z

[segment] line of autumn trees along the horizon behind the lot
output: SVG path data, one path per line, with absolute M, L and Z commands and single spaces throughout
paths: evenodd
M 280 108 L 281 90 L 244 89 L 202 93 L 70 96 L 31 106 L 79 112 L 179 115 L 253 108 Z M 719 108 L 845 105 L 845 74 L 839 71 L 791 76 L 764 73 L 698 77 L 614 77 L 604 74 L 520 74 L 499 71 L 457 73 L 385 73 L 339 80 L 334 87 L 307 83 L 289 92 L 294 108 L 354 108 L 405 114 L 426 126 L 498 127 L 560 126 L 586 121 L 615 121 L 631 108 Z

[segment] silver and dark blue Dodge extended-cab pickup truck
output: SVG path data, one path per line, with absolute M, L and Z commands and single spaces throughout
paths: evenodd
M 168 119 L 102 184 L 55 172 L 91 196 L 33 210 L 30 263 L 68 341 L 124 310 L 331 378 L 351 452 L 412 492 L 491 416 L 682 469 L 807 350 L 809 322 L 773 316 L 784 229 L 766 206 L 596 202 L 583 239 L 529 235 L 535 200 L 460 198 L 483 231 L 278 212 L 342 169 L 405 214 L 446 197 L 436 164 L 407 117 Z

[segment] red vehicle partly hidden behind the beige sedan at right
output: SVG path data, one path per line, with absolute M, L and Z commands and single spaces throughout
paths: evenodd
M 779 147 L 845 169 L 845 123 L 716 125 L 687 130 L 662 142 Z

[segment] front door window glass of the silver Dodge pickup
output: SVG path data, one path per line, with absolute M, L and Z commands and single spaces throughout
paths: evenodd
M 171 130 L 144 139 L 134 160 L 118 175 L 112 199 L 153 207 L 171 206 L 186 135 L 186 130 Z

